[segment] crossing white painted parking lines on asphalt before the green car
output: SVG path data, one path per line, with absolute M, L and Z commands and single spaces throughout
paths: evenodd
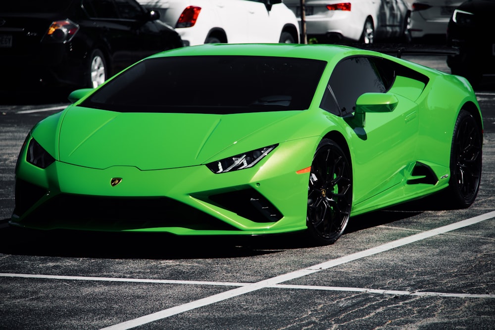
M 45 278 L 45 279 L 61 279 L 61 280 L 86 280 L 86 281 L 117 281 L 117 282 L 144 282 L 144 283 L 180 283 L 180 284 L 200 284 L 200 285 L 227 285 L 238 286 L 236 288 L 191 301 L 189 303 L 171 307 L 156 313 L 145 315 L 133 320 L 129 320 L 123 323 L 119 323 L 104 330 L 124 330 L 138 327 L 153 321 L 161 320 L 172 315 L 180 314 L 186 311 L 190 311 L 199 307 L 211 305 L 216 302 L 220 302 L 229 298 L 237 297 L 242 294 L 246 294 L 252 291 L 256 291 L 268 287 L 279 288 L 292 288 L 292 289 L 314 289 L 314 290 L 334 290 L 334 291 L 352 291 L 352 292 L 370 292 L 379 294 L 397 294 L 397 295 L 413 295 L 413 296 L 439 296 L 439 297 L 475 297 L 475 298 L 495 298 L 495 294 L 463 294 L 463 293 L 442 293 L 442 292 L 408 292 L 397 290 L 376 290 L 368 288 L 353 288 L 353 287 L 332 287 L 332 286 L 311 286 L 311 285 L 286 285 L 280 284 L 290 280 L 294 280 L 305 275 L 320 272 L 325 269 L 336 267 L 338 265 L 345 264 L 350 261 L 358 260 L 368 256 L 372 256 L 381 252 L 389 251 L 399 246 L 407 245 L 425 238 L 445 234 L 447 232 L 457 230 L 463 227 L 471 226 L 476 223 L 493 219 L 495 217 L 495 211 L 482 214 L 470 219 L 462 220 L 447 226 L 439 227 L 430 231 L 421 232 L 412 236 L 407 236 L 401 239 L 397 239 L 383 245 L 370 248 L 368 250 L 356 252 L 343 256 L 341 258 L 329 260 L 308 268 L 300 269 L 291 273 L 276 276 L 267 280 L 259 281 L 256 283 L 228 283 L 228 282 L 203 282 L 203 281 L 171 281 L 171 280 L 138 280 L 138 279 L 115 279 L 115 278 L 99 278 L 99 277 L 71 277 L 71 276 L 49 276 L 49 275 L 28 275 L 28 274 L 8 274 L 3 273 L 0 276 L 3 277 L 24 277 L 24 278 Z

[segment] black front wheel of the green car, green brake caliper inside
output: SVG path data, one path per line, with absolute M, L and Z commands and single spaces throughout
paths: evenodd
M 316 149 L 309 174 L 307 236 L 312 244 L 334 243 L 344 232 L 352 205 L 352 171 L 346 153 L 332 140 Z

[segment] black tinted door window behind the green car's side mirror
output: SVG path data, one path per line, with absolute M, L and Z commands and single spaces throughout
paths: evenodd
M 340 112 L 338 114 L 341 115 L 354 111 L 360 95 L 384 93 L 388 88 L 379 74 L 377 65 L 368 57 L 350 57 L 339 62 L 330 76 L 329 87 L 321 107 L 332 113 Z

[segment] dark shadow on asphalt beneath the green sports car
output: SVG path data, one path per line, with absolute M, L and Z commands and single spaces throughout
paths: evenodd
M 445 209 L 436 195 L 352 217 L 344 235 Z M 174 236 L 10 227 L 0 221 L 0 253 L 99 259 L 242 258 L 311 247 L 301 233 L 269 236 Z

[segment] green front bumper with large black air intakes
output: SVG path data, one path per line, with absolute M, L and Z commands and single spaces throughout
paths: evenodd
M 317 140 L 281 143 L 253 168 L 222 174 L 203 165 L 98 170 L 59 161 L 43 170 L 24 161 L 23 150 L 11 224 L 176 235 L 301 231 L 306 228 L 309 174 L 296 171 L 311 164 Z M 112 178 L 122 181 L 112 187 Z

